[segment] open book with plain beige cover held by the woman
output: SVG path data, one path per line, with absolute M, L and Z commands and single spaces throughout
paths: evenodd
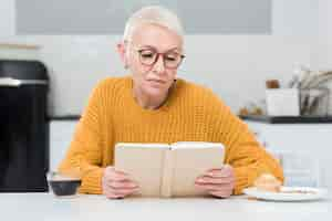
M 115 168 L 129 173 L 144 197 L 201 196 L 195 188 L 196 178 L 222 162 L 224 146 L 217 143 L 115 145 Z

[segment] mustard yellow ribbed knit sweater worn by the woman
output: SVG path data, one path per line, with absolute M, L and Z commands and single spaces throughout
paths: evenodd
M 113 165 L 116 143 L 222 143 L 225 164 L 235 168 L 235 194 L 263 172 L 283 180 L 278 162 L 211 91 L 177 80 L 166 103 L 151 110 L 136 103 L 132 87 L 131 76 L 110 77 L 89 99 L 59 167 L 62 172 L 80 173 L 80 192 L 102 193 L 103 171 Z

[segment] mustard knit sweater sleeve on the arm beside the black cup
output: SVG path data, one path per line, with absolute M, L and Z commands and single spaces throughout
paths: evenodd
M 80 176 L 82 193 L 102 193 L 101 86 L 93 90 L 59 171 Z

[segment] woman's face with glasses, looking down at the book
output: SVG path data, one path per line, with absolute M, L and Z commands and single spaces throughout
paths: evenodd
M 134 31 L 126 50 L 134 87 L 148 96 L 164 96 L 181 60 L 181 38 L 167 28 L 142 24 Z

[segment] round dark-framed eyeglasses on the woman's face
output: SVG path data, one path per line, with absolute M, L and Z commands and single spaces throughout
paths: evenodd
M 177 69 L 185 59 L 185 55 L 176 52 L 174 49 L 164 53 L 158 53 L 154 48 L 139 49 L 137 52 L 141 63 L 147 66 L 155 65 L 162 55 L 166 69 Z

